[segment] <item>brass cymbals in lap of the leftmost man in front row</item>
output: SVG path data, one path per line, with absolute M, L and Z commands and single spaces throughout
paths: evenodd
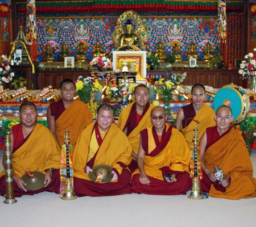
M 28 172 L 22 176 L 22 180 L 27 184 L 24 186 L 26 190 L 39 190 L 44 187 L 44 178 L 46 175 L 38 171 Z

